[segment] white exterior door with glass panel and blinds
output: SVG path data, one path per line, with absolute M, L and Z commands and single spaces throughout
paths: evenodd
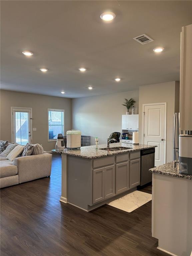
M 12 141 L 31 144 L 31 109 L 12 108 Z

